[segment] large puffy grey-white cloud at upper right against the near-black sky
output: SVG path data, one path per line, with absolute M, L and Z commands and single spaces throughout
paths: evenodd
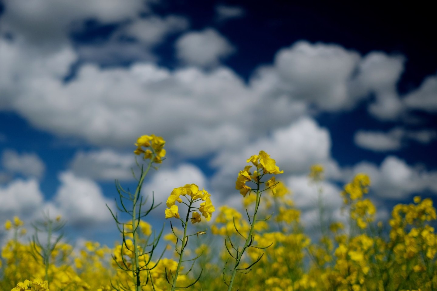
M 298 41 L 278 51 L 274 65 L 259 68 L 251 83 L 265 94 L 285 95 L 322 110 L 347 109 L 356 102 L 348 96 L 348 81 L 359 60 L 357 52 L 339 45 Z

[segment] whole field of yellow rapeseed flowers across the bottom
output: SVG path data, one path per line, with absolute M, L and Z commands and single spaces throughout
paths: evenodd
M 60 239 L 60 230 L 53 231 L 63 226 L 61 217 L 47 217 L 40 224 L 47 228 L 35 230 L 33 240 L 24 239 L 27 230 L 19 217 L 7 220 L 4 231 L 11 239 L 0 253 L 0 290 L 221 291 L 224 283 L 228 290 L 251 291 L 437 290 L 432 199 L 416 196 L 412 203 L 395 205 L 388 223 L 377 222 L 377 209 L 366 197 L 370 178 L 360 173 L 339 193 L 343 219 L 321 214 L 320 233 L 313 229 L 310 238 L 291 191 L 275 177 L 282 171 L 264 151 L 251 156 L 251 164 L 237 175 L 243 211 L 239 205 L 222 205 L 213 217 L 211 195 L 186 184 L 173 189 L 161 212 L 172 231 L 156 231 L 147 215 L 157 205 L 153 197 L 143 200 L 139 190 L 151 165 L 163 161 L 164 144 L 155 135 L 139 137 L 135 144 L 146 167 L 140 166 L 135 193 L 117 184 L 120 199 L 129 202 L 123 200 L 120 209 L 130 216 L 121 221 L 111 212 L 122 238 L 113 247 L 86 241 L 74 248 Z M 309 180 L 322 197 L 322 165 L 310 169 Z M 155 254 L 161 234 L 174 253 Z M 52 236 L 49 247 L 39 243 L 38 235 Z

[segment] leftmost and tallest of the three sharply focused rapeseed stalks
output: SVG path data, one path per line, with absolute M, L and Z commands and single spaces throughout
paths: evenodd
M 140 246 L 139 231 L 141 229 L 141 225 L 144 223 L 142 218 L 146 217 L 153 209 L 160 205 L 155 205 L 155 199 L 152 195 L 152 203 L 150 207 L 146 211 L 142 210 L 142 207 L 146 204 L 147 199 L 143 201 L 143 196 L 140 195 L 140 193 L 142 184 L 144 183 L 144 178 L 146 178 L 150 168 L 152 168 L 153 164 L 162 163 L 163 158 L 165 157 L 166 151 L 163 148 L 164 144 L 165 141 L 162 137 L 156 137 L 153 134 L 151 136 L 143 135 L 139 137 L 135 143 L 137 149 L 134 151 L 134 153 L 137 155 L 142 155 L 144 161 L 149 161 L 146 165 L 146 169 L 144 169 L 144 164 L 140 166 L 137 162 L 137 166 L 140 168 L 141 174 L 139 178 L 137 178 L 138 184 L 135 189 L 135 193 L 132 194 L 129 191 L 125 191 L 118 181 L 115 183 L 118 195 L 120 197 L 120 200 L 118 201 L 119 203 L 117 203 L 117 208 L 119 211 L 127 213 L 128 216 L 130 216 L 130 222 L 122 223 L 118 219 L 118 215 L 114 214 L 109 206 L 106 205 L 117 224 L 118 230 L 123 236 L 123 243 L 120 246 L 119 252 L 117 252 L 116 255 L 113 255 L 114 262 L 119 268 L 121 268 L 121 270 L 132 272 L 133 286 L 135 286 L 136 291 L 141 291 L 142 286 L 148 284 L 149 280 L 153 290 L 155 290 L 150 270 L 158 265 L 161 257 L 163 256 L 162 253 L 158 261 L 153 264 L 153 266 L 150 266 L 153 253 L 158 246 L 163 229 L 161 229 L 161 232 L 158 234 L 158 236 L 153 236 L 152 243 L 146 244 L 143 247 Z M 129 207 L 129 204 L 131 204 L 131 207 Z M 128 239 L 127 237 L 131 237 L 132 240 Z M 149 251 L 143 250 L 147 247 L 149 247 Z M 144 282 L 144 280 L 142 281 L 141 274 L 143 271 L 146 271 L 146 282 Z M 115 286 L 112 283 L 111 285 L 117 291 L 131 290 L 129 286 L 125 286 L 124 284 L 121 284 L 121 282 L 119 282 L 118 286 Z

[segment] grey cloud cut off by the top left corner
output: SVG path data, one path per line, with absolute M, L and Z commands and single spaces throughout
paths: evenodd
M 31 45 L 56 49 L 68 42 L 68 33 L 84 20 L 118 22 L 148 11 L 147 1 L 132 0 L 6 0 L 0 19 L 2 32 L 23 38 Z

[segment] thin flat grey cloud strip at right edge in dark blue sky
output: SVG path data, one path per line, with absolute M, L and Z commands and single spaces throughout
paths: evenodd
M 405 146 L 407 140 L 427 144 L 435 138 L 435 130 L 413 131 L 396 127 L 388 132 L 358 130 L 354 135 L 354 142 L 357 146 L 371 151 L 396 151 Z

